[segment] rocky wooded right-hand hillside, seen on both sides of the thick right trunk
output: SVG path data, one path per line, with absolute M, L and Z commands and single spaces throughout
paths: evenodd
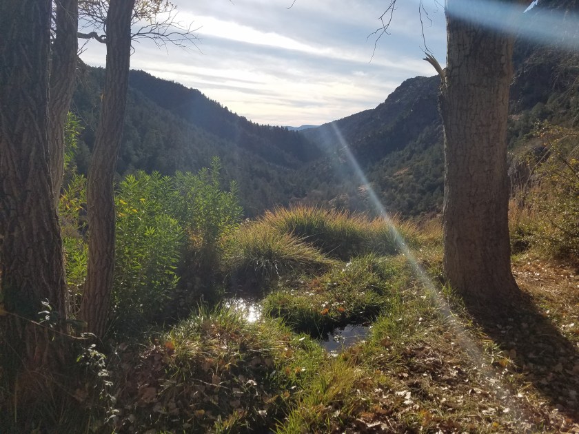
M 531 23 L 529 28 L 537 27 L 532 23 L 564 11 L 571 3 L 542 1 L 523 19 Z M 579 54 L 561 48 L 566 46 L 561 41 L 577 37 L 577 27 L 571 25 L 556 39 L 516 41 L 508 138 L 513 184 L 520 182 L 518 162 L 537 145 L 533 132 L 538 123 L 574 127 L 579 121 Z M 373 110 L 305 130 L 305 136 L 330 153 L 316 161 L 314 169 L 303 171 L 306 185 L 315 186 L 308 190 L 306 202 L 372 210 L 366 181 L 344 152 L 347 145 L 388 211 L 405 216 L 440 211 L 444 156 L 439 83 L 438 76 L 409 79 Z

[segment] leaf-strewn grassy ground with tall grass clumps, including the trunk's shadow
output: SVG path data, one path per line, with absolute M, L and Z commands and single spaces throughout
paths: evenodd
M 443 285 L 436 222 L 396 223 L 410 239 L 403 254 L 379 247 L 396 238 L 385 220 L 296 214 L 268 214 L 224 242 L 225 296 L 252 296 L 260 318 L 225 298 L 145 342 L 117 342 L 106 360 L 85 351 L 74 405 L 45 400 L 51 425 L 148 434 L 579 429 L 576 269 L 518 254 L 527 301 L 488 320 Z M 347 225 L 355 249 L 338 242 Z M 368 333 L 325 351 L 321 336 L 346 324 Z

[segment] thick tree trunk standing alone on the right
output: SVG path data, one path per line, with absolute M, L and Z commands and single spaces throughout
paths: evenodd
M 444 265 L 451 286 L 471 302 L 507 305 L 519 293 L 511 273 L 507 215 L 513 36 L 461 19 L 455 13 L 459 3 L 447 1 L 447 72 L 440 95 L 445 126 Z M 474 4 L 469 2 L 470 7 Z M 509 18 L 504 10 L 479 8 L 485 21 L 506 27 L 507 21 L 501 21 Z

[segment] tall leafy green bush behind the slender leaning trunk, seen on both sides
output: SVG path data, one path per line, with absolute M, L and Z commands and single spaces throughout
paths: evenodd
M 236 185 L 220 188 L 219 159 L 212 169 L 174 178 L 158 172 L 126 176 L 116 192 L 116 242 L 112 321 L 117 331 L 139 328 L 167 307 L 170 298 L 196 301 L 195 285 L 203 280 L 212 291 L 219 270 L 223 239 L 241 220 Z M 74 172 L 74 170 L 72 171 Z M 64 247 L 75 313 L 86 278 L 85 183 L 72 173 L 60 200 Z M 192 300 L 195 298 L 195 300 Z

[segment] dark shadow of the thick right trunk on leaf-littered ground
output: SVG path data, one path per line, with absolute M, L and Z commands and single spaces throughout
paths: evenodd
M 562 335 L 525 292 L 506 315 L 499 316 L 493 309 L 483 311 L 467 300 L 465 304 L 474 322 L 509 354 L 516 372 L 534 385 L 549 406 L 579 422 L 578 344 Z

